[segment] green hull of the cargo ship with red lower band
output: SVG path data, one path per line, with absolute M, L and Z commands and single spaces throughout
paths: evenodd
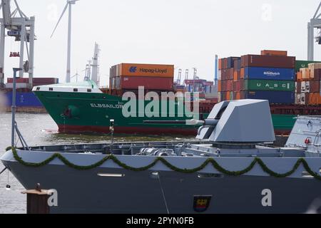
M 115 133 L 148 135 L 195 135 L 199 125 L 152 124 L 144 120 L 186 120 L 183 117 L 148 118 L 123 116 L 126 101 L 106 93 L 73 93 L 34 90 L 61 133 L 109 133 L 110 120 L 115 121 Z M 176 103 L 175 107 L 178 108 Z M 170 110 L 168 108 L 168 110 Z M 137 112 L 137 115 L 139 111 Z M 200 113 L 206 118 L 208 113 Z M 290 133 L 295 115 L 272 115 L 275 133 Z

